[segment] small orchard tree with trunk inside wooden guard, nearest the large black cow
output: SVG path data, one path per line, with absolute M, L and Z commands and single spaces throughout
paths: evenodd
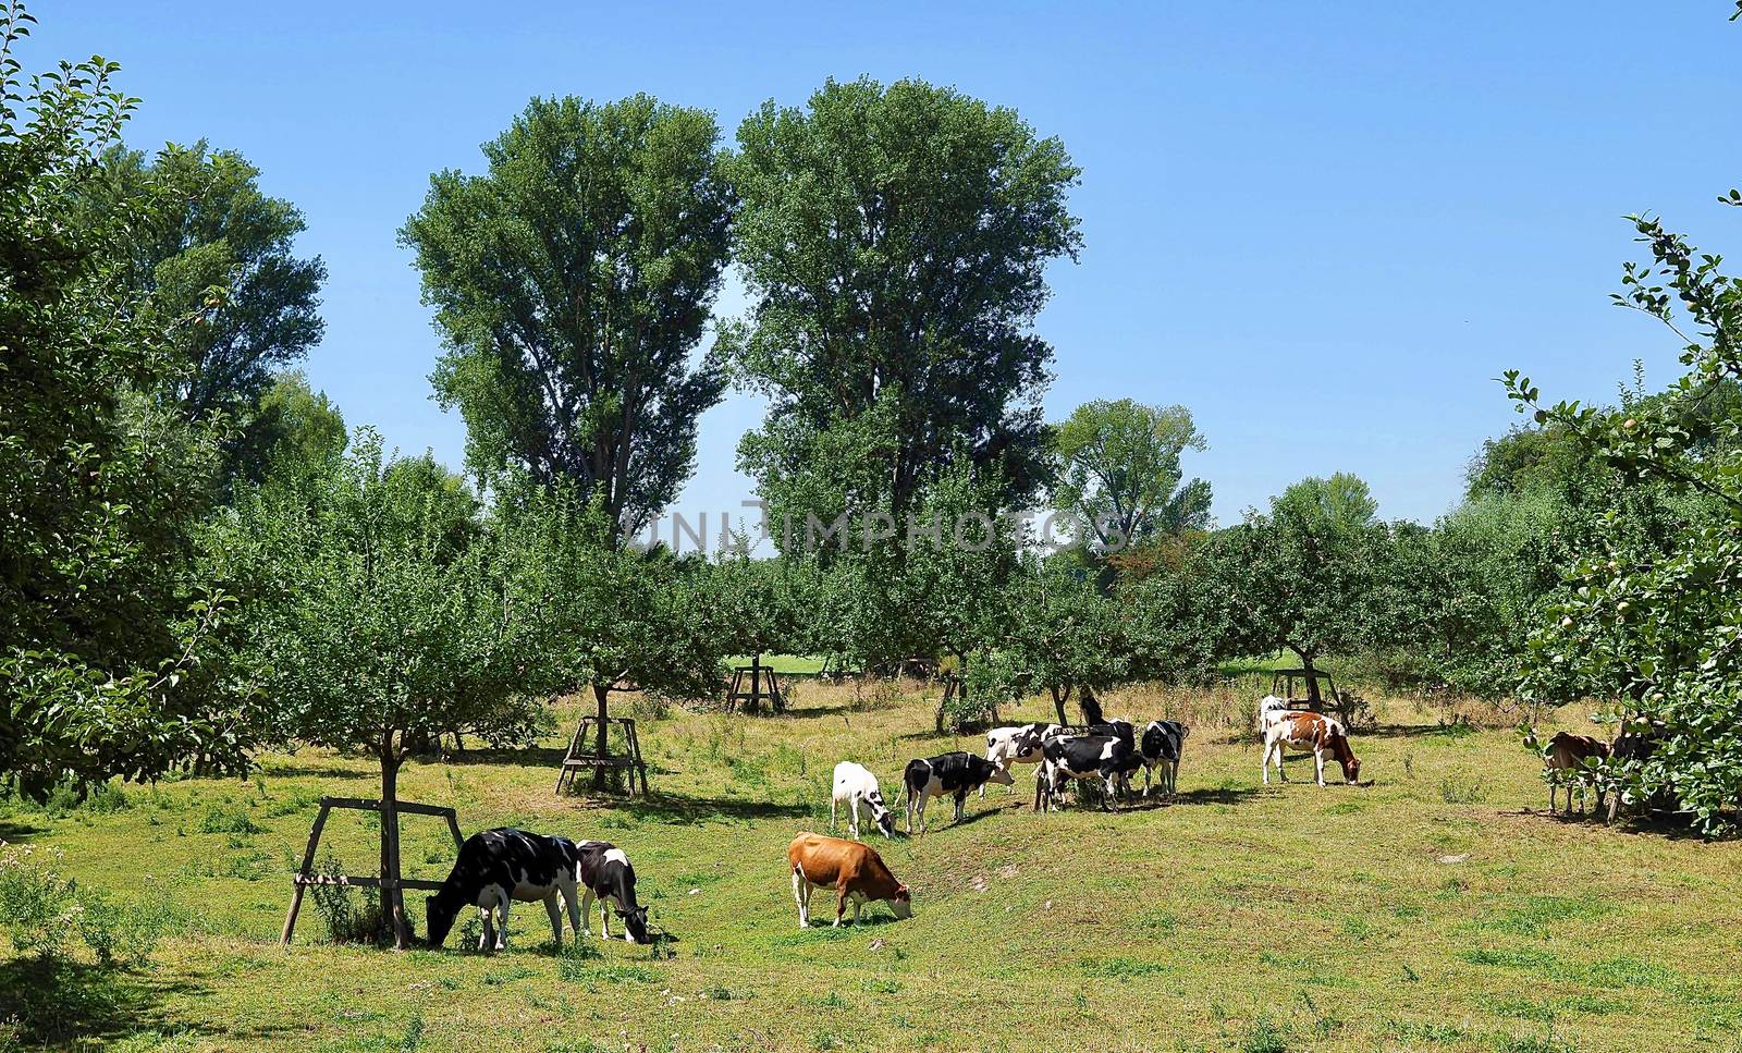
M 542 687 L 526 567 L 474 509 L 439 464 L 387 459 L 359 429 L 348 455 L 244 493 L 214 544 L 233 575 L 267 582 L 244 608 L 247 652 L 286 736 L 380 765 L 383 896 L 401 948 L 399 769 L 444 732 L 530 741 Z

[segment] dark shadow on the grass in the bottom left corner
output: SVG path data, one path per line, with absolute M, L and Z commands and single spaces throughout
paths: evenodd
M 153 983 L 118 968 L 44 961 L 35 955 L 0 962 L 0 1006 L 30 1046 L 106 1043 L 165 1023 L 159 999 L 199 992 L 192 983 Z

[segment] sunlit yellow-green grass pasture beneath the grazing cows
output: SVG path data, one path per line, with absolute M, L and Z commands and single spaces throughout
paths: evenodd
M 1742 1048 L 1742 846 L 1549 818 L 1514 732 L 1442 729 L 1399 701 L 1355 741 L 1373 785 L 1320 790 L 1310 760 L 1258 785 L 1244 689 L 1113 694 L 1108 713 L 1195 724 L 1178 804 L 1036 816 L 1024 772 L 962 825 L 944 807 L 925 837 L 876 840 L 915 889 L 911 921 L 876 907 L 800 931 L 784 849 L 827 826 L 834 762 L 868 764 L 894 798 L 909 757 L 979 743 L 928 734 L 916 685 L 794 694 L 782 718 L 645 708 L 652 800 L 552 797 L 563 729 L 401 778 L 467 832 L 625 847 L 674 959 L 622 941 L 556 957 L 537 905 L 496 955 L 458 938 L 331 947 L 312 908 L 280 948 L 314 802 L 376 786 L 361 760 L 303 751 L 251 783 L 0 816 L 0 837 L 63 849 L 82 882 L 164 889 L 190 917 L 136 969 L 47 969 L 0 940 L 0 1020 L 26 1043 L 115 1050 Z M 329 823 L 354 872 L 373 854 L 364 819 Z M 437 821 L 408 818 L 404 842 L 413 875 L 446 873 Z

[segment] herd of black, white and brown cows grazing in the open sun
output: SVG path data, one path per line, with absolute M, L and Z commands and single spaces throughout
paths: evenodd
M 1099 713 L 1094 713 L 1099 717 Z M 1263 779 L 1270 783 L 1270 764 L 1282 774 L 1284 750 L 1310 751 L 1317 781 L 1324 786 L 1324 760 L 1329 753 L 1355 783 L 1361 762 L 1348 748 L 1348 734 L 1322 713 L 1301 713 L 1284 699 L 1266 696 L 1258 704 L 1263 732 Z M 1033 764 L 1035 811 L 1050 812 L 1064 786 L 1077 781 L 1099 783 L 1101 807 L 1117 812 L 1120 797 L 1134 793 L 1132 776 L 1143 769 L 1143 795 L 1151 790 L 1151 776 L 1164 797 L 1172 798 L 1179 776 L 1179 757 L 1190 729 L 1178 720 L 1151 720 L 1139 737 L 1129 720 L 1097 720 L 1084 727 L 1023 724 L 986 734 L 986 757 L 965 751 L 915 758 L 902 771 L 902 795 L 908 833 L 918 818 L 925 832 L 925 804 L 934 797 L 955 798 L 955 818 L 962 819 L 969 793 L 986 795 L 988 783 L 1012 786 L 1012 767 Z M 1286 776 L 1284 776 L 1286 778 Z M 869 901 L 888 903 L 895 917 L 911 917 L 913 894 L 895 880 L 881 856 L 859 839 L 862 811 L 883 837 L 895 837 L 895 816 L 883 800 L 876 776 L 864 765 L 843 760 L 834 765 L 834 790 L 829 798 L 829 826 L 838 823 L 838 809 L 847 805 L 847 832 L 852 840 L 800 833 L 787 847 L 793 875 L 793 900 L 798 903 L 800 927 L 810 926 L 810 894 L 817 887 L 834 889 L 834 924 L 852 908 L 852 921 Z M 584 903 L 577 905 L 577 894 Z M 610 938 L 610 914 L 624 922 L 624 940 L 646 943 L 648 912 L 636 901 L 636 872 L 629 856 L 601 840 L 570 840 L 524 830 L 486 830 L 460 846 L 460 858 L 442 887 L 425 901 L 429 943 L 441 947 L 465 907 L 483 915 L 479 950 L 502 950 L 509 934 L 509 905 L 544 903 L 550 915 L 550 938 L 563 945 L 563 905 L 577 938 L 591 934 L 592 901 L 599 901 L 599 934 Z

